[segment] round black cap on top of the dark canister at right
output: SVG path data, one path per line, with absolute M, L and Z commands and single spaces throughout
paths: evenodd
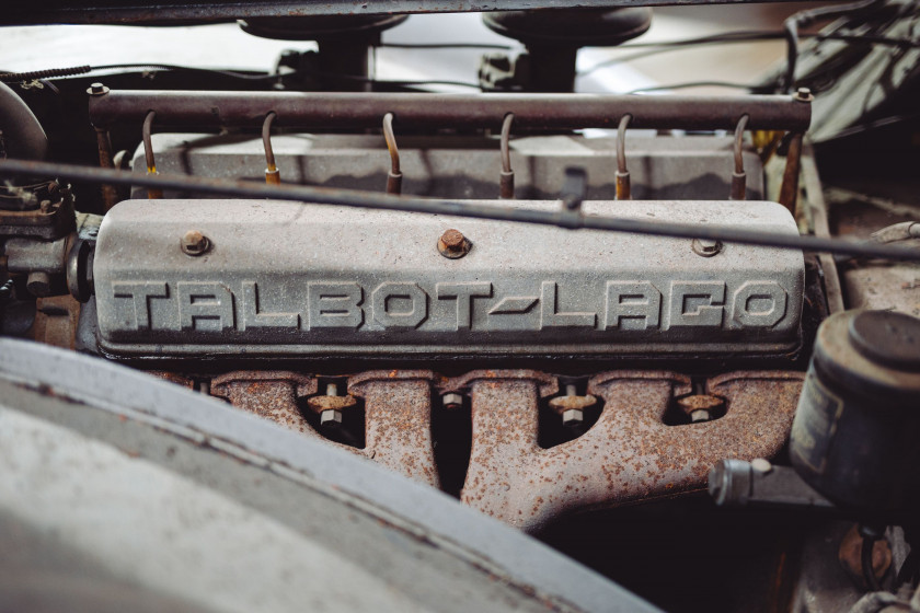
M 864 358 L 920 370 L 920 320 L 895 311 L 864 311 L 850 322 L 850 342 Z

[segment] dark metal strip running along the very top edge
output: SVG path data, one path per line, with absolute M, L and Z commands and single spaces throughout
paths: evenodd
M 748 4 L 767 0 L 579 0 L 578 8 L 657 7 L 668 4 Z M 769 0 L 775 1 L 775 0 Z M 789 2 L 793 0 L 780 0 Z M 246 0 L 198 1 L 159 0 L 141 5 L 136 0 L 39 0 L 12 2 L 0 12 L 0 24 L 26 25 L 49 23 L 88 24 L 187 24 L 232 21 L 248 18 L 288 18 L 309 15 L 353 15 L 395 13 L 463 13 L 483 11 L 520 11 L 533 9 L 568 9 L 560 0 L 497 0 L 480 3 L 473 0 L 440 2 L 436 0 Z

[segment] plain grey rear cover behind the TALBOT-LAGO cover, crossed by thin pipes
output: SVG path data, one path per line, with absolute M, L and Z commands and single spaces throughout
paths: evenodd
M 264 144 L 256 137 L 161 132 L 152 137 L 161 173 L 261 180 Z M 380 192 L 392 171 L 381 136 L 284 134 L 272 138 L 278 172 L 286 182 Z M 507 142 L 514 185 L 499 173 L 501 142 L 487 137 L 400 139 L 402 193 L 436 198 L 555 199 L 565 169 L 588 173 L 588 200 L 616 199 L 617 141 L 578 135 L 524 136 Z M 135 173 L 146 172 L 143 149 L 134 153 Z M 716 136 L 630 135 L 632 197 L 635 200 L 720 200 L 729 190 L 732 139 Z M 743 153 L 748 200 L 763 199 L 763 172 L 752 149 Z M 192 197 L 165 190 L 166 198 Z M 204 194 L 195 194 L 207 197 Z M 133 198 L 147 198 L 135 187 Z

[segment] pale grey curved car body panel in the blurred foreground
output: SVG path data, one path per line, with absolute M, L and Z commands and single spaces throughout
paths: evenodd
M 73 351 L 0 338 L 0 425 L 7 609 L 656 610 L 429 487 Z

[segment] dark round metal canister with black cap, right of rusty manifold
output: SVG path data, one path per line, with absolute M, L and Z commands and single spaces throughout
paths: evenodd
M 846 311 L 818 328 L 790 440 L 796 472 L 835 504 L 920 510 L 920 320 Z

